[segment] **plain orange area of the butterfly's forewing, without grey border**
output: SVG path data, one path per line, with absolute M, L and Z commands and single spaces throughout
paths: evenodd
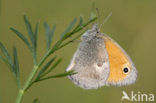
M 123 80 L 127 74 L 123 72 L 123 68 L 127 67 L 130 70 L 130 63 L 126 54 L 122 49 L 114 43 L 109 37 L 104 37 L 105 46 L 109 56 L 110 75 L 108 82 L 118 82 Z

